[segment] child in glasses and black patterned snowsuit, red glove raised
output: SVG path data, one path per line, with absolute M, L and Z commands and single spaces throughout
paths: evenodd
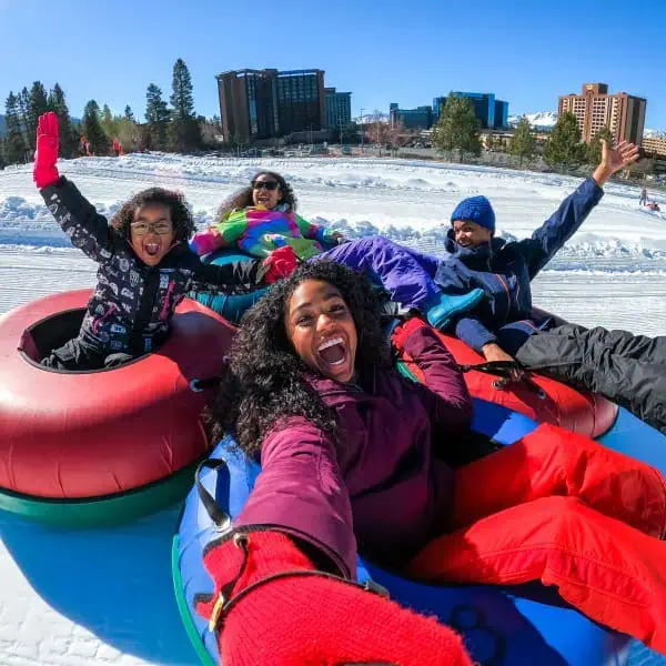
M 194 222 L 176 192 L 139 192 L 109 224 L 58 173 L 58 118 L 51 111 L 39 119 L 34 182 L 72 244 L 99 270 L 79 335 L 53 350 L 42 365 L 70 371 L 119 365 L 167 339 L 175 306 L 190 290 L 248 293 L 284 276 L 280 258 L 202 264 L 188 245 Z

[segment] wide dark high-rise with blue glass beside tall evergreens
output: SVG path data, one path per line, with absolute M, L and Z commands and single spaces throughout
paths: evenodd
M 322 70 L 234 70 L 218 79 L 224 138 L 271 139 L 325 124 Z

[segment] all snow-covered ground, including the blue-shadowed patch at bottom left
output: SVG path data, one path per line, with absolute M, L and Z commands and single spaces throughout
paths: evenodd
M 528 235 L 576 179 L 379 159 L 219 160 L 129 155 L 64 162 L 61 171 L 109 215 L 132 193 L 182 190 L 198 223 L 259 169 L 293 184 L 300 212 L 349 235 L 382 232 L 434 253 L 457 201 L 486 194 L 505 236 Z M 666 333 L 666 213 L 610 184 L 597 209 L 534 285 L 536 304 L 584 325 Z M 666 195 L 650 192 L 666 211 Z M 0 313 L 91 286 L 94 264 L 68 245 L 29 168 L 0 172 Z M 169 571 L 176 512 L 103 532 L 67 532 L 0 513 L 0 664 L 192 665 Z

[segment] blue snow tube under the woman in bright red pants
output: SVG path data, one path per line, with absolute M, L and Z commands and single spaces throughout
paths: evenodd
M 666 447 L 639 444 L 634 438 L 638 425 L 624 413 L 624 431 L 604 443 L 630 453 L 666 471 Z M 640 422 L 636 420 L 638 424 Z M 642 424 L 644 425 L 644 424 Z M 495 403 L 475 400 L 473 430 L 491 441 L 509 445 L 537 426 L 535 421 Z M 650 428 L 652 430 L 652 428 Z M 662 437 L 659 433 L 654 431 Z M 260 467 L 238 450 L 231 437 L 218 444 L 212 460 L 220 466 L 205 470 L 201 481 L 218 505 L 238 516 L 254 486 Z M 220 664 L 216 637 L 193 607 L 196 593 L 213 592 L 203 567 L 203 551 L 216 532 L 193 488 L 184 504 L 179 532 L 173 541 L 172 569 L 176 599 L 188 634 L 202 664 Z M 639 642 L 601 627 L 567 606 L 554 588 L 541 584 L 515 587 L 455 586 L 434 587 L 405 581 L 359 557 L 359 581 L 372 579 L 386 587 L 391 598 L 421 613 L 436 615 L 465 637 L 472 658 L 492 666 L 643 666 L 666 664 L 666 659 Z M 417 649 L 417 646 L 414 646 Z

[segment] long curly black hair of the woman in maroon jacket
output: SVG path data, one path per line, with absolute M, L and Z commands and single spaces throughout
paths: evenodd
M 301 264 L 244 314 L 232 343 L 229 372 L 209 412 L 213 437 L 233 433 L 240 448 L 252 457 L 259 456 L 269 431 L 290 416 L 303 416 L 337 440 L 336 415 L 307 381 L 315 371 L 296 354 L 285 330 L 285 307 L 305 280 L 332 284 L 347 304 L 359 339 L 359 380 L 370 379 L 377 367 L 391 366 L 381 302 L 367 279 L 330 261 Z

